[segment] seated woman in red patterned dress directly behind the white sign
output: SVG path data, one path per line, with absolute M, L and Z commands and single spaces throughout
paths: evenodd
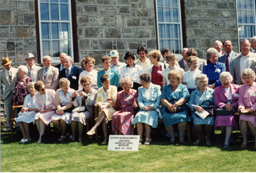
M 123 91 L 118 92 L 115 109 L 118 110 L 112 117 L 112 130 L 115 135 L 133 135 L 132 119 L 138 108 L 138 92 L 132 87 L 132 79 L 125 77 L 121 81 Z

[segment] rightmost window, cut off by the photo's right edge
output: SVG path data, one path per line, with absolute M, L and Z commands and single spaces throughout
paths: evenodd
M 237 0 L 236 7 L 238 36 L 240 43 L 241 40 L 250 40 L 250 38 L 256 35 L 255 1 Z

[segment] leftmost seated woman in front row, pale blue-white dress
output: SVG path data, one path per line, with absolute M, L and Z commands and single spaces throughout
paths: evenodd
M 34 97 L 36 93 L 34 84 L 35 82 L 28 83 L 27 87 L 30 94 L 25 97 L 22 109 L 20 110 L 18 117 L 15 118 L 16 123 L 19 123 L 19 128 L 23 136 L 23 138 L 20 140 L 22 143 L 31 140 L 29 133 L 29 123 L 34 121 L 35 114 L 38 112 L 38 104 Z

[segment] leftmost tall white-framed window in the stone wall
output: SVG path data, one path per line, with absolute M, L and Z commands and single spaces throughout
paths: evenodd
M 73 58 L 70 9 L 70 0 L 38 1 L 41 62 L 49 55 L 52 63 L 58 63 L 61 52 Z

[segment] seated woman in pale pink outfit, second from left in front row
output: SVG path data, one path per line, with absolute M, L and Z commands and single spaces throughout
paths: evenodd
M 44 82 L 41 80 L 36 81 L 35 89 L 38 91 L 35 98 L 39 112 L 35 115 L 34 123 L 36 123 L 40 135 L 37 143 L 42 143 L 45 126 L 51 123 L 52 116 L 55 114 L 56 92 L 53 89 L 46 89 Z

